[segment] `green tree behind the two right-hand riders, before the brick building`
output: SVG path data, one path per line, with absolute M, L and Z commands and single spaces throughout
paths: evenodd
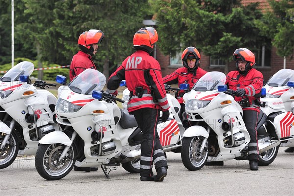
M 243 6 L 240 0 L 179 0 L 164 1 L 158 10 L 160 48 L 175 55 L 188 46 L 228 63 L 236 48 L 254 52 L 267 38 L 258 36 L 254 20 L 261 18 L 258 3 Z

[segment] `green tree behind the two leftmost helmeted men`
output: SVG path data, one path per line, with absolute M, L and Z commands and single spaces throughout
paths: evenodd
M 132 53 L 134 33 L 143 27 L 143 19 L 153 15 L 150 10 L 147 0 L 60 0 L 54 24 L 61 34 L 59 44 L 65 48 L 61 52 L 70 63 L 78 51 L 79 35 L 89 29 L 102 30 L 105 39 L 93 59 L 108 78 L 109 71 Z

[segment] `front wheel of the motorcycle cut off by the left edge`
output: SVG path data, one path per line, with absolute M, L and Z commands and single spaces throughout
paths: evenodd
M 5 138 L 6 134 L 0 132 L 0 146 Z M 0 150 L 0 169 L 10 166 L 19 151 L 18 136 L 15 132 L 12 132 L 3 150 Z

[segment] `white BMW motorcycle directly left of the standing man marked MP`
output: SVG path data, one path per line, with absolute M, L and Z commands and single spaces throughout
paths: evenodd
M 61 80 L 62 79 L 62 80 Z M 56 81 L 66 84 L 66 78 Z M 140 160 L 142 132 L 133 115 L 120 109 L 123 100 L 102 92 L 105 76 L 87 69 L 68 86 L 58 89 L 56 120 L 63 131 L 43 137 L 35 156 L 38 173 L 47 180 L 65 177 L 73 168 L 101 166 L 105 176 L 122 164 L 125 170 L 138 173 L 134 167 Z M 169 119 L 158 125 L 165 145 L 171 149 L 180 140 L 180 127 Z

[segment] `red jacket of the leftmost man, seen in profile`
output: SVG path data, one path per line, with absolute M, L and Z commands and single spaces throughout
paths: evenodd
M 96 66 L 92 60 L 91 55 L 78 51 L 77 54 L 73 56 L 71 66 L 70 66 L 70 80 L 86 69 L 96 69 Z

